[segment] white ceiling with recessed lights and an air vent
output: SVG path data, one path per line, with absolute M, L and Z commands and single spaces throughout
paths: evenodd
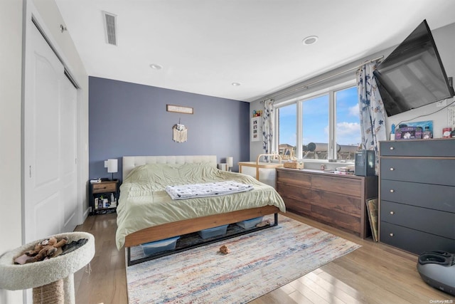
M 424 19 L 455 22 L 453 0 L 55 2 L 88 75 L 248 102 L 395 46 Z M 102 11 L 117 15 L 118 46 Z

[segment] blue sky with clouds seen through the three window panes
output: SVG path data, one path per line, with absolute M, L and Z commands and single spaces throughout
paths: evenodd
M 336 142 L 338 145 L 360 144 L 357 88 L 336 92 Z M 303 103 L 303 144 L 328 142 L 328 95 Z M 296 146 L 296 104 L 279 108 L 279 144 Z

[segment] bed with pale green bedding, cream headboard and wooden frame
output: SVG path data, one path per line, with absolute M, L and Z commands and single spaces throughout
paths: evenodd
M 117 206 L 117 248 L 190 234 L 215 226 L 285 212 L 273 187 L 253 177 L 216 169 L 215 155 L 123 157 L 123 182 Z M 164 187 L 235 180 L 251 184 L 247 192 L 173 200 Z

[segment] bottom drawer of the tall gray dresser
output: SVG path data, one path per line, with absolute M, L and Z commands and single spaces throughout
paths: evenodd
M 425 251 L 442 250 L 455 252 L 455 240 L 426 232 L 390 224 L 380 223 L 380 241 L 391 246 L 421 254 Z

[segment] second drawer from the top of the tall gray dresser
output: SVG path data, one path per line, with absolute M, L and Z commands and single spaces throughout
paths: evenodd
M 381 158 L 381 179 L 455 186 L 455 159 Z

